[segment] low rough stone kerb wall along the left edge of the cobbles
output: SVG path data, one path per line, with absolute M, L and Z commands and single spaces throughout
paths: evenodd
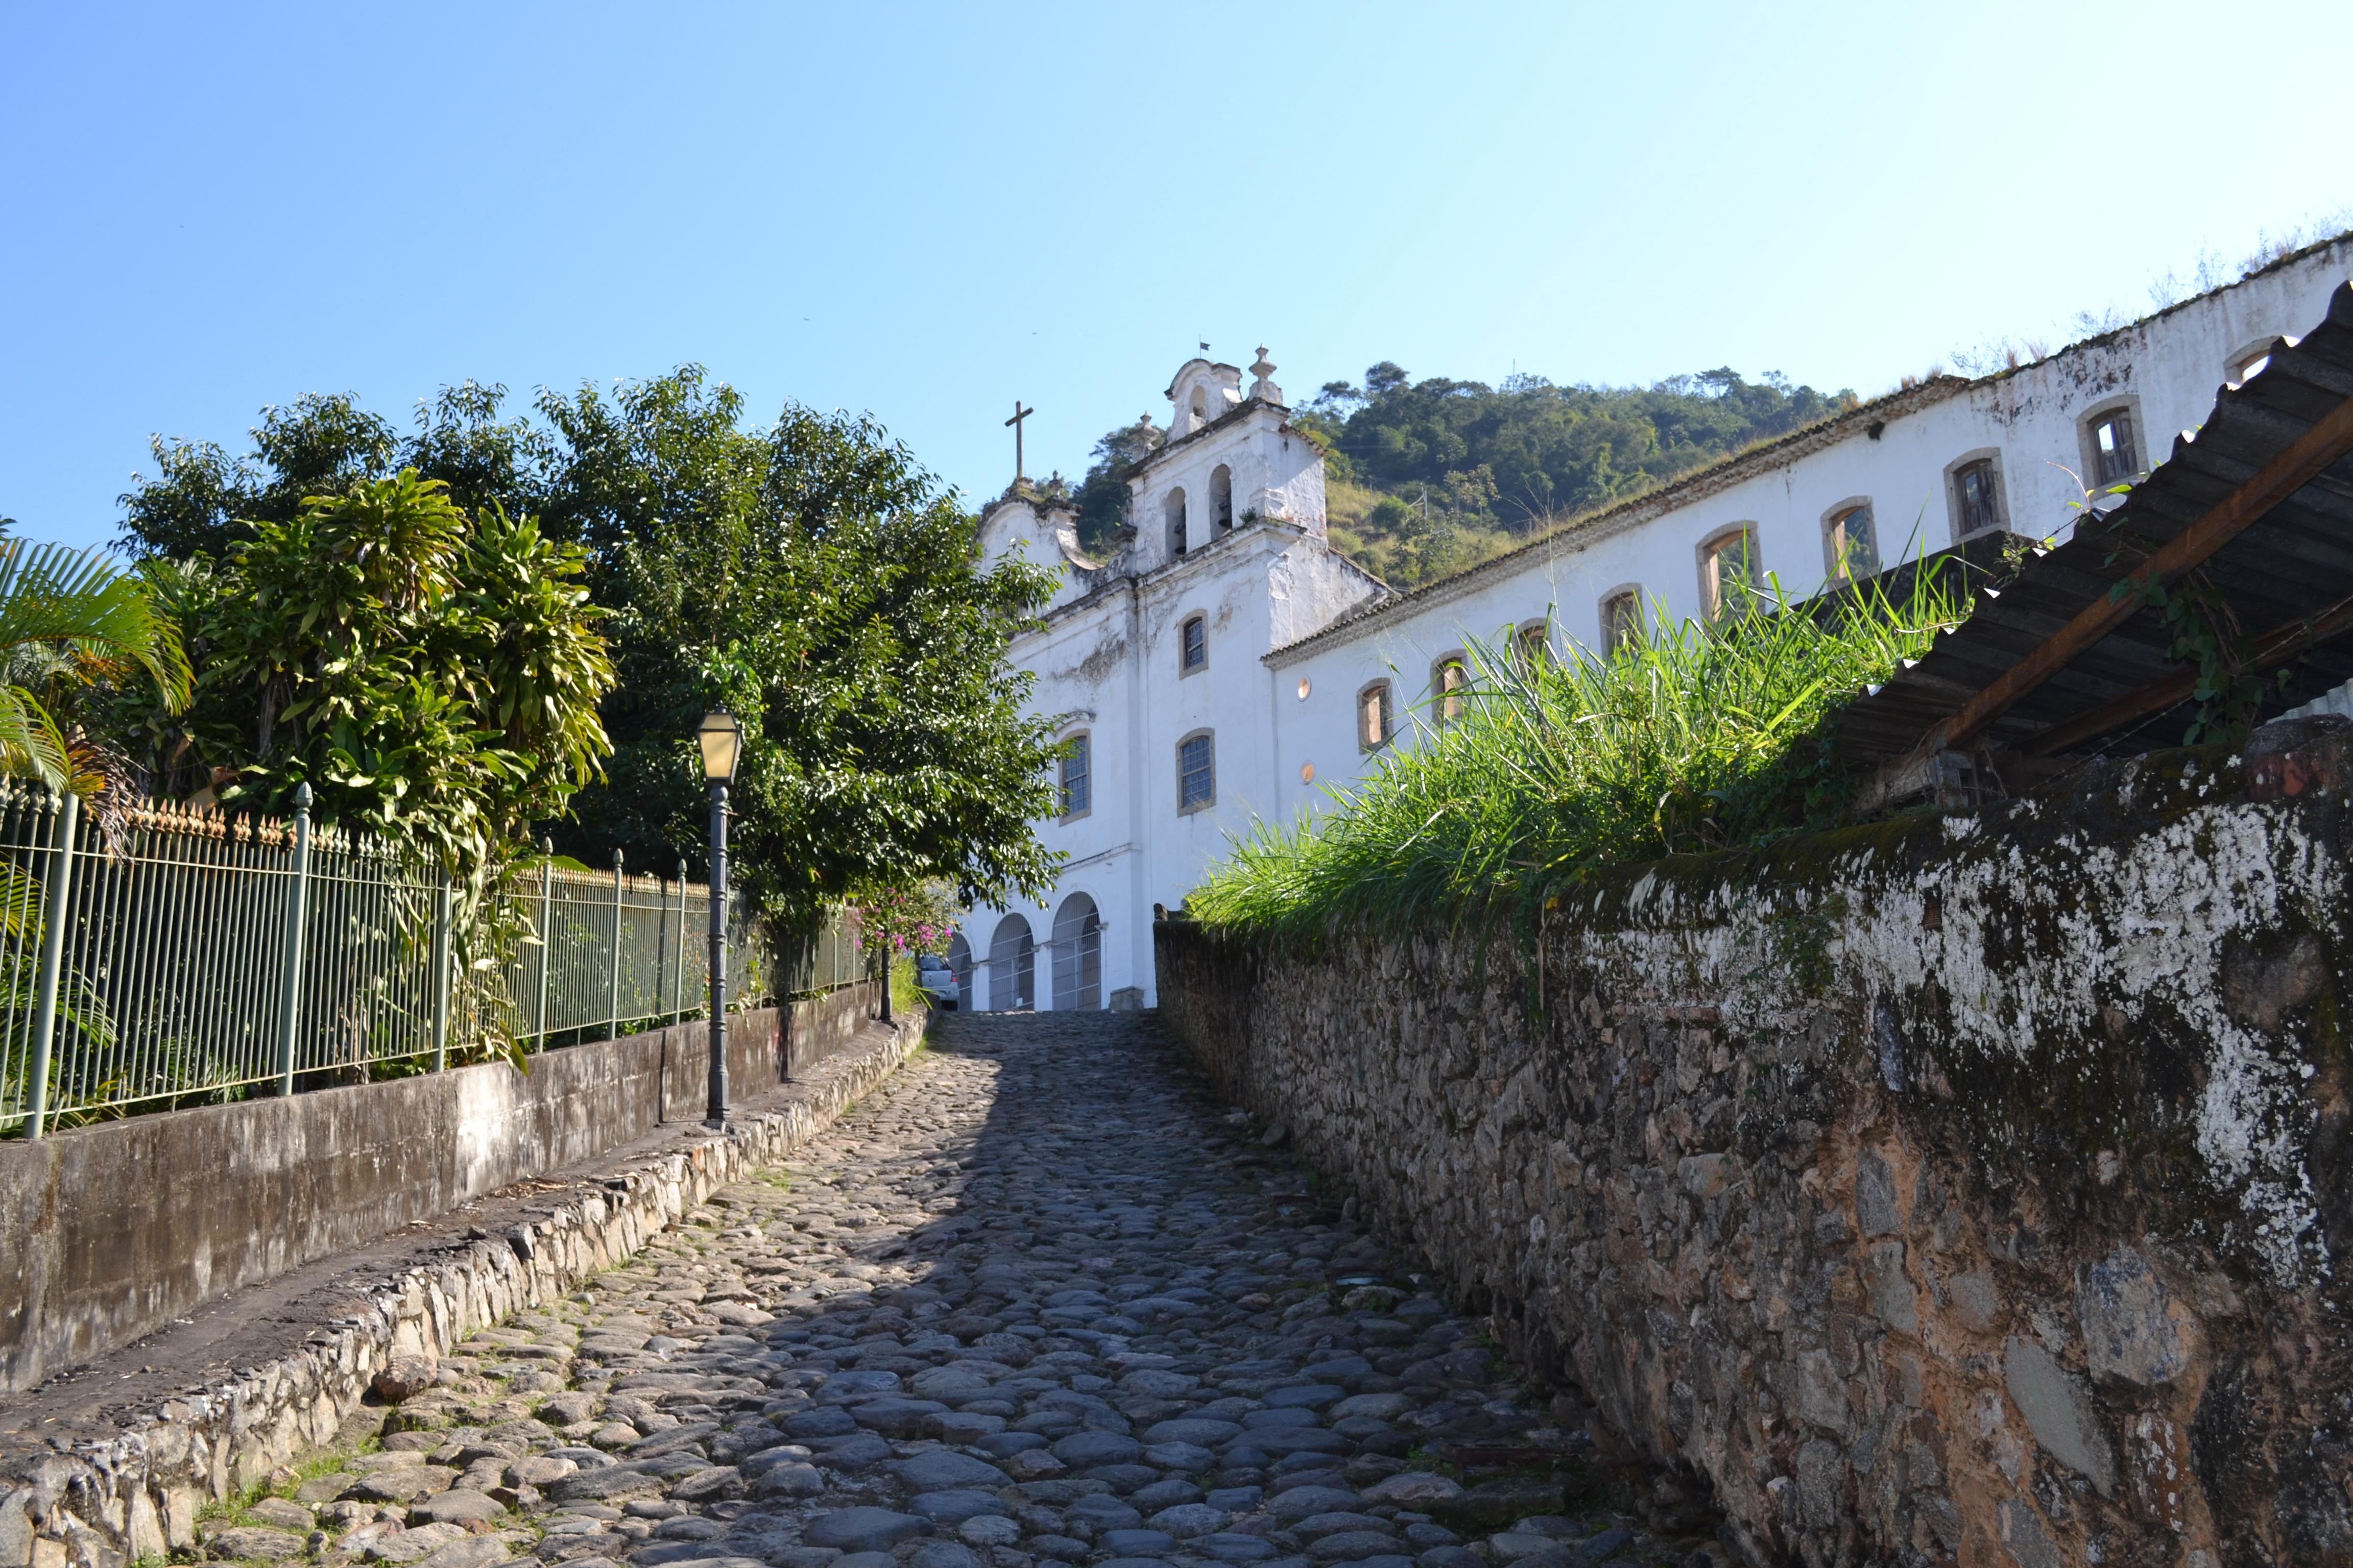
M 835 1051 L 725 1133 L 614 1171 L 511 1234 L 384 1281 L 362 1312 L 320 1324 L 299 1354 L 172 1399 L 108 1441 L 16 1458 L 0 1474 L 0 1568 L 122 1568 L 191 1547 L 207 1500 L 332 1443 L 393 1356 L 438 1359 L 473 1328 L 624 1262 L 711 1192 L 831 1126 L 922 1044 L 925 1020 L 901 1018 L 875 1048 Z

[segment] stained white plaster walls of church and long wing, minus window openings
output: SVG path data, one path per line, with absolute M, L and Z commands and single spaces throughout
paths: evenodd
M 2320 320 L 2348 270 L 2353 244 L 2322 244 L 2017 371 L 1897 393 L 1409 597 L 1384 595 L 1332 552 L 1322 458 L 1285 423 L 1280 390 L 1245 393 L 1240 369 L 1193 360 L 1169 388 L 1174 437 L 1132 480 L 1134 531 L 1111 559 L 1080 555 L 1075 515 L 1042 496 L 1016 491 L 981 524 L 986 557 L 1019 548 L 1061 578 L 1047 630 L 1007 654 L 1040 677 L 1033 710 L 1092 715 L 1071 729 L 1099 729 L 1094 816 L 1040 823 L 1071 863 L 1047 898 L 1012 912 L 1045 943 L 1054 910 L 1087 893 L 1106 922 L 1104 999 L 1134 990 L 1148 1001 L 1151 905 L 1181 903 L 1228 835 L 1329 809 L 1332 785 L 1377 766 L 1358 745 L 1355 698 L 1367 682 L 1393 679 L 1402 717 L 1426 698 L 1438 656 L 1504 628 L 1548 618 L 1555 649 L 1593 646 L 1602 597 L 1621 588 L 1640 588 L 1671 618 L 1699 614 L 1699 548 L 1729 524 L 1755 529 L 1765 569 L 1798 595 L 1824 581 L 1824 515 L 1842 503 L 1873 505 L 1885 559 L 1944 548 L 1958 529 L 1946 473 L 1977 451 L 2000 463 L 2009 529 L 2064 534 L 2082 498 L 2068 470 L 2085 473 L 2089 411 L 2129 400 L 2141 458 L 2165 456 L 2177 430 L 2205 418 L 2240 355 Z M 1186 411 L 1195 386 L 1209 414 L 1200 425 Z M 1261 524 L 1264 536 L 1242 527 L 1207 538 L 1219 463 L 1233 470 L 1238 522 L 1252 505 L 1278 520 Z M 1167 552 L 1172 487 L 1193 503 L 1193 550 L 1181 562 Z M 1235 618 L 1214 637 L 1209 670 L 1179 684 L 1174 625 L 1193 607 Z M 1193 726 L 1219 741 L 1219 804 L 1207 813 L 1174 809 L 1174 743 Z M 1125 733 L 1118 745 L 1113 729 Z M 1409 726 L 1400 745 L 1417 743 Z M 1005 912 L 976 910 L 965 924 L 984 959 Z M 1042 964 L 1038 1006 L 1049 1006 L 1052 954 Z

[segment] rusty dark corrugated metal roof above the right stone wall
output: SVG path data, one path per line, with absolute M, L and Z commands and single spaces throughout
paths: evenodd
M 1977 614 L 1913 668 L 1857 701 L 1842 722 L 1849 762 L 1864 769 L 1906 759 L 1932 731 L 2005 675 L 2026 665 L 2068 623 L 2141 571 L 2158 550 L 2228 503 L 2322 421 L 2353 400 L 2353 287 L 2339 284 L 2329 313 L 2299 343 L 2273 350 L 2245 386 L 2226 386 L 2205 425 L 2184 433 L 2172 456 L 2106 515 L 2078 522 L 2068 543 L 2033 552 Z M 2186 576 L 2209 585 L 2238 630 L 2259 646 L 2313 642 L 2287 663 L 2285 689 L 2266 679 L 2266 717 L 2353 679 L 2353 456 L 2264 510 Z M 2179 581 L 2179 578 L 2177 578 Z M 2174 686 L 2195 670 L 2177 658 L 2174 628 L 2144 604 L 2066 658 L 1962 745 L 2024 755 L 2139 752 L 2177 745 L 2195 715 Z M 2049 661 L 2049 654 L 2045 654 Z M 2017 677 L 2012 677 L 2017 679 Z M 2082 736 L 2113 719 L 2115 705 L 2148 708 L 2132 722 Z M 1866 790 L 1868 795 L 1868 790 Z

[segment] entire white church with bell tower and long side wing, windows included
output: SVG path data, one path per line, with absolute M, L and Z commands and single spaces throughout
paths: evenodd
M 1986 531 L 2064 536 L 2087 489 L 2146 473 L 2219 383 L 2322 320 L 2348 268 L 2339 237 L 2033 364 L 1934 376 L 1417 592 L 1329 545 L 1322 456 L 1266 350 L 1247 388 L 1191 360 L 1113 559 L 1019 484 L 981 517 L 986 557 L 1061 574 L 1009 658 L 1073 748 L 1066 811 L 1038 825 L 1066 853 L 1059 884 L 967 914 L 965 1006 L 1151 1006 L 1153 905 L 1184 903 L 1257 820 L 1322 809 L 1412 745 L 1473 642 L 1607 649 L 1628 618 L 1708 614 L 1744 567 L 1809 592 Z

